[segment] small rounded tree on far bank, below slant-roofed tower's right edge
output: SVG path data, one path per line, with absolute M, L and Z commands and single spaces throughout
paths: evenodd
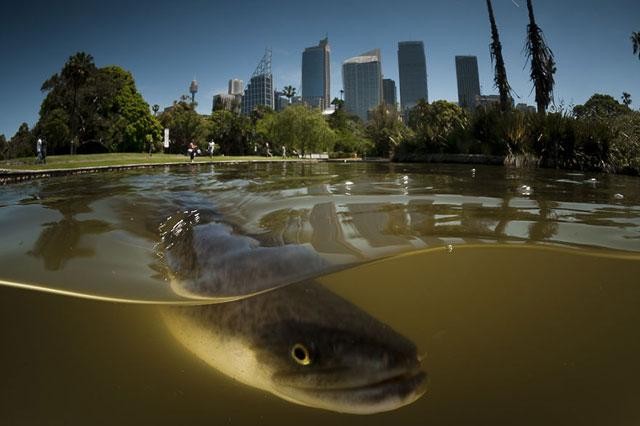
M 410 132 L 400 119 L 400 114 L 395 108 L 380 104 L 371 113 L 371 119 L 367 122 L 366 135 L 374 146 L 376 155 L 392 158 L 396 148 L 408 136 Z

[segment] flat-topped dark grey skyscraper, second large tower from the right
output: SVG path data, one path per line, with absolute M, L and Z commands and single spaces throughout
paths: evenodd
M 420 99 L 429 102 L 427 62 L 421 41 L 398 43 L 398 71 L 402 110 L 413 108 Z

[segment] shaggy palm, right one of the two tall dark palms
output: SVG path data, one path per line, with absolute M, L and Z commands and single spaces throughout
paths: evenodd
M 525 50 L 527 59 L 531 60 L 530 76 L 535 86 L 538 112 L 544 114 L 553 101 L 553 86 L 555 84 L 553 74 L 556 72 L 556 63 L 553 59 L 553 52 L 544 40 L 542 30 L 536 24 L 531 0 L 527 0 L 527 9 L 529 10 L 529 25 L 527 26 Z

